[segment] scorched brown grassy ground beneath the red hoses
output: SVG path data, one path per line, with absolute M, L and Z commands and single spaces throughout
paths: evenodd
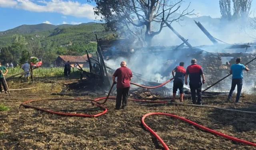
M 76 82 L 75 79 L 56 79 L 56 81 L 59 85 Z M 68 97 L 51 95 L 61 90 L 58 86 L 53 87 L 50 83 L 42 85 L 42 89 L 12 91 L 12 96 L 0 95 L 0 104 L 11 108 L 8 112 L 0 112 L 0 150 L 162 150 L 162 145 L 141 124 L 142 116 L 149 112 L 175 114 L 229 136 L 256 143 L 255 114 L 132 101 L 128 102 L 126 110 L 114 110 L 115 101 L 109 100 L 104 104 L 108 108 L 105 115 L 98 118 L 83 118 L 58 116 L 20 106 L 27 100 Z M 76 98 L 102 97 L 106 96 L 105 93 Z M 225 100 L 226 96 L 217 96 L 211 99 L 205 98 L 203 102 L 210 106 L 256 111 L 254 95 L 243 96 L 242 104 L 226 103 Z M 190 100 L 186 99 L 184 102 L 190 103 Z M 84 101 L 56 100 L 29 104 L 59 112 L 84 114 L 102 112 L 101 108 Z M 174 150 L 256 149 L 204 132 L 168 116 L 148 116 L 145 122 L 170 149 Z

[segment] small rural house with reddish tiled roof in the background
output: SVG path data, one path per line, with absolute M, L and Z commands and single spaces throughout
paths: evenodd
M 92 55 L 89 54 L 89 57 L 92 57 Z M 54 62 L 54 66 L 56 67 L 64 67 L 65 63 L 70 61 L 70 64 L 73 66 L 74 64 L 78 63 L 81 67 L 87 68 L 89 67 L 89 62 L 87 55 L 83 56 L 64 56 L 60 55 Z

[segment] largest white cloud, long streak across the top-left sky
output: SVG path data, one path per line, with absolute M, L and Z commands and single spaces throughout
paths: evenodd
M 14 7 L 31 12 L 58 12 L 64 15 L 95 19 L 93 6 L 81 4 L 77 1 L 64 0 L 39 0 L 42 4 L 36 4 L 34 0 L 0 0 L 0 7 Z

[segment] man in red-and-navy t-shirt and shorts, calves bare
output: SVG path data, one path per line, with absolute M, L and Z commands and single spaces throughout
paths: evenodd
M 174 76 L 174 72 L 176 72 Z M 172 102 L 175 102 L 176 92 L 180 90 L 180 102 L 183 102 L 183 85 L 186 69 L 184 68 L 184 62 L 180 62 L 180 66 L 177 66 L 172 70 L 173 81 L 173 91 L 172 91 Z

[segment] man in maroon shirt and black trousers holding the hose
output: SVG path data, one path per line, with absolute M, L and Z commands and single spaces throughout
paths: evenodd
M 126 62 L 121 62 L 121 67 L 118 68 L 112 76 L 113 82 L 116 82 L 116 109 L 119 110 L 122 101 L 122 109 L 127 106 L 128 94 L 130 90 L 130 80 L 132 79 L 132 71 L 126 67 Z M 123 100 L 122 100 L 123 97 Z

